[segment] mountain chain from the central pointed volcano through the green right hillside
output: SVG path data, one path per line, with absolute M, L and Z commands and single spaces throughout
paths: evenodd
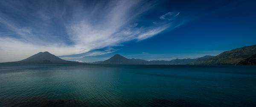
M 232 49 L 217 56 L 206 55 L 195 59 L 175 60 L 141 60 L 125 58 L 119 54 L 108 60 L 94 62 L 93 64 L 163 64 L 163 65 L 253 65 L 255 63 L 256 45 Z M 242 61 L 242 62 L 241 62 Z M 241 62 L 241 63 L 239 63 Z

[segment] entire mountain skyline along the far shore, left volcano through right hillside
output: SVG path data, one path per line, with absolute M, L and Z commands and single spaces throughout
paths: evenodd
M 79 63 L 58 58 L 49 52 L 39 52 L 24 60 L 0 64 L 161 64 L 161 65 L 256 65 L 256 45 L 222 52 L 217 56 L 206 55 L 195 59 L 142 60 L 125 58 L 119 54 L 105 61 Z

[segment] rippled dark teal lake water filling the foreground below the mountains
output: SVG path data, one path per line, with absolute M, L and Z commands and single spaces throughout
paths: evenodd
M 256 107 L 256 66 L 0 65 L 0 106 Z

